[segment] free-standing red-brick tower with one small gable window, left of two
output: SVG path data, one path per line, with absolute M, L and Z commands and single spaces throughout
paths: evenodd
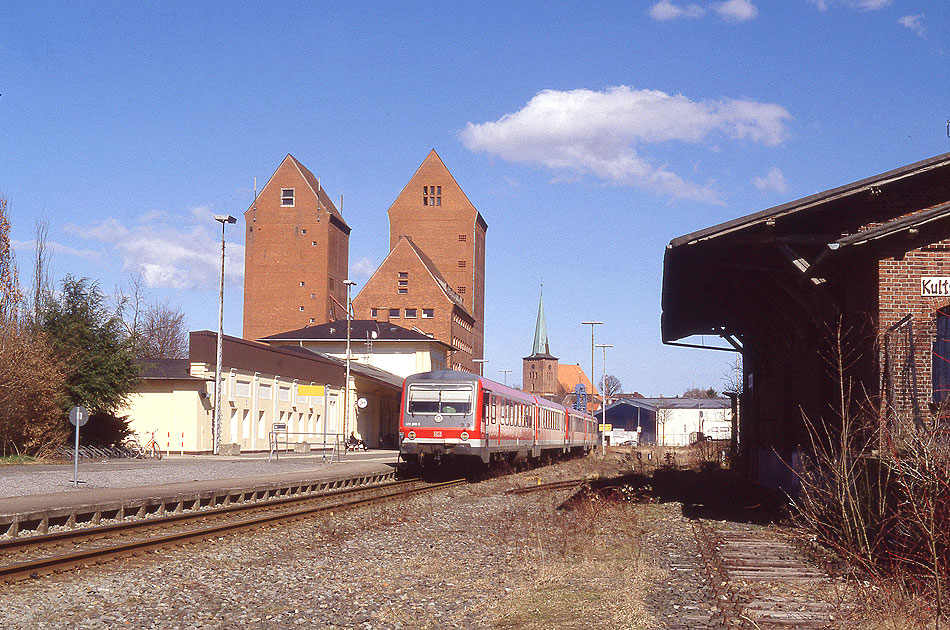
M 244 338 L 346 317 L 350 228 L 287 155 L 244 213 Z

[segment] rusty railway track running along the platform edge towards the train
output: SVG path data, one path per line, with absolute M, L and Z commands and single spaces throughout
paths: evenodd
M 316 496 L 174 514 L 101 527 L 0 541 L 0 582 L 37 578 L 90 564 L 179 545 L 211 536 L 350 509 L 464 483 L 463 479 L 426 484 L 418 479 L 351 488 Z

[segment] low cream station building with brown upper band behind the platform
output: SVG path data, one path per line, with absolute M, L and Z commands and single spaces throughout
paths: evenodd
M 267 451 L 274 425 L 291 442 L 332 443 L 358 430 L 376 447 L 399 428 L 402 378 L 371 365 L 351 364 L 350 403 L 344 410 L 345 361 L 299 347 L 272 347 L 225 335 L 222 344 L 221 451 Z M 213 450 L 217 334 L 190 334 L 188 358 L 149 359 L 142 380 L 119 415 L 129 417 L 141 443 L 154 432 L 163 450 Z M 321 395 L 304 395 L 317 385 Z M 357 405 L 364 399 L 365 405 Z

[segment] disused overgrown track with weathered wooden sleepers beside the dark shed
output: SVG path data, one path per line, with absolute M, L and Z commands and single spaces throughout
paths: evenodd
M 737 524 L 693 520 L 714 612 L 708 627 L 755 630 L 856 628 L 834 584 L 790 543 Z M 705 625 L 705 624 L 704 624 Z

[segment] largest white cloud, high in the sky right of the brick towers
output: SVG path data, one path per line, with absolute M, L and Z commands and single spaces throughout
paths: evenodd
M 544 90 L 499 120 L 468 123 L 460 134 L 472 151 L 509 162 L 589 173 L 622 185 L 681 199 L 719 202 L 697 185 L 641 154 L 645 145 L 699 143 L 713 134 L 765 145 L 781 143 L 791 115 L 780 105 L 749 100 L 692 101 L 627 86 L 601 92 Z

